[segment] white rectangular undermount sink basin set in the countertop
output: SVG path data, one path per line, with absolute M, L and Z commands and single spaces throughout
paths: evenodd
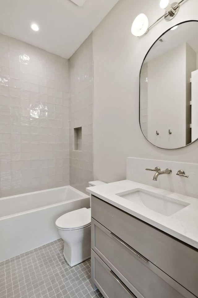
M 187 202 L 163 195 L 158 195 L 154 192 L 146 192 L 144 190 L 128 191 L 117 195 L 128 201 L 166 216 L 170 216 L 190 205 Z

